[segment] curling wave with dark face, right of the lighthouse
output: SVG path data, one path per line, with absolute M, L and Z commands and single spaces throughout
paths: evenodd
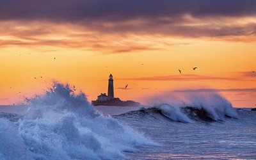
M 173 100 L 173 99 L 172 99 Z M 195 122 L 217 122 L 225 121 L 226 118 L 238 118 L 237 111 L 227 99 L 216 93 L 202 96 L 194 94 L 180 100 L 179 103 L 165 102 L 154 104 L 153 107 L 141 108 L 138 111 L 130 111 L 122 115 L 115 116 L 152 116 L 159 119 L 160 116 L 175 122 L 194 124 Z M 170 101 L 170 100 L 169 100 Z M 161 119 L 161 118 L 160 118 Z

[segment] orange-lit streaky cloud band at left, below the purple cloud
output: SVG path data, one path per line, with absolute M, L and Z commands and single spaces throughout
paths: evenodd
M 0 47 L 10 45 L 54 46 L 80 48 L 102 53 L 154 51 L 164 46 L 182 45 L 180 42 L 164 42 L 161 36 L 108 35 L 97 33 L 76 24 L 52 22 L 0 22 Z

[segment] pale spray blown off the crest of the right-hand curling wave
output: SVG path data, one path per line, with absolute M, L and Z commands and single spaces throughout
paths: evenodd
M 205 109 L 212 120 L 225 120 L 225 116 L 238 118 L 236 109 L 220 94 L 212 92 L 168 92 L 150 97 L 148 105 L 161 109 L 164 115 L 180 122 L 189 122 L 177 108 Z M 179 118 L 178 118 L 179 117 Z

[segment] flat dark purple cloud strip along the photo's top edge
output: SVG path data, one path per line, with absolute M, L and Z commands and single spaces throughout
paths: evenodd
M 106 20 L 155 19 L 189 14 L 204 16 L 255 15 L 255 1 L 240 0 L 1 0 L 1 19 Z

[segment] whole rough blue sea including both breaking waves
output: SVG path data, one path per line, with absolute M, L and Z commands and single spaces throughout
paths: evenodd
M 55 83 L 0 106 L 0 159 L 256 159 L 256 111 L 218 93 L 180 103 L 92 106 Z

